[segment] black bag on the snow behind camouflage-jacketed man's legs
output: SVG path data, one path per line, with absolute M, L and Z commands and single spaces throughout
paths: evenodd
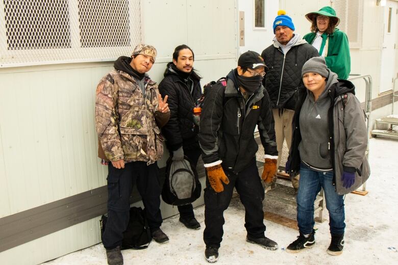
M 108 217 L 103 215 L 99 223 L 101 224 L 101 239 L 105 231 Z M 151 232 L 145 218 L 144 210 L 141 207 L 130 208 L 129 225 L 123 232 L 121 249 L 146 249 L 152 240 Z M 145 246 L 145 244 L 148 244 Z

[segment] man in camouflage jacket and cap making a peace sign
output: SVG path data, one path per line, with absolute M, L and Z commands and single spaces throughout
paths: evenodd
M 156 49 L 139 44 L 132 57 L 119 57 L 115 70 L 105 75 L 96 89 L 95 127 L 101 157 L 108 163 L 108 220 L 103 233 L 109 264 L 122 264 L 122 233 L 129 223 L 133 183 L 142 197 L 152 237 L 168 241 L 160 229 L 159 169 L 156 161 L 163 154 L 159 126 L 170 116 L 167 96 L 145 73 L 156 59 Z

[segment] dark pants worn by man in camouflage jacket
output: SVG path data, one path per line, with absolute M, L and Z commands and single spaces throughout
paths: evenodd
M 157 163 L 130 162 L 125 168 L 117 169 L 108 165 L 108 220 L 103 234 L 106 249 L 121 245 L 122 233 L 127 229 L 130 219 L 130 195 L 134 183 L 145 207 L 146 219 L 151 232 L 162 224 L 160 213 L 159 168 Z

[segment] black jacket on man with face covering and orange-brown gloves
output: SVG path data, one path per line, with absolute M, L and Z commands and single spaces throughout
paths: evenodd
M 238 90 L 236 74 L 234 69 L 227 75 L 227 87 L 218 81 L 207 92 L 199 142 L 205 164 L 222 160 L 223 168 L 240 172 L 256 157 L 256 125 L 265 154 L 278 155 L 278 150 L 267 91 L 261 86 L 245 104 Z

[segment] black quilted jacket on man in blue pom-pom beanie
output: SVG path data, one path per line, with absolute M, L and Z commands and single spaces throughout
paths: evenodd
M 271 99 L 273 109 L 294 110 L 298 92 L 304 90 L 301 70 L 310 58 L 319 52 L 307 41 L 298 40 L 286 53 L 277 44 L 272 44 L 261 53 L 268 67 L 263 85 Z

